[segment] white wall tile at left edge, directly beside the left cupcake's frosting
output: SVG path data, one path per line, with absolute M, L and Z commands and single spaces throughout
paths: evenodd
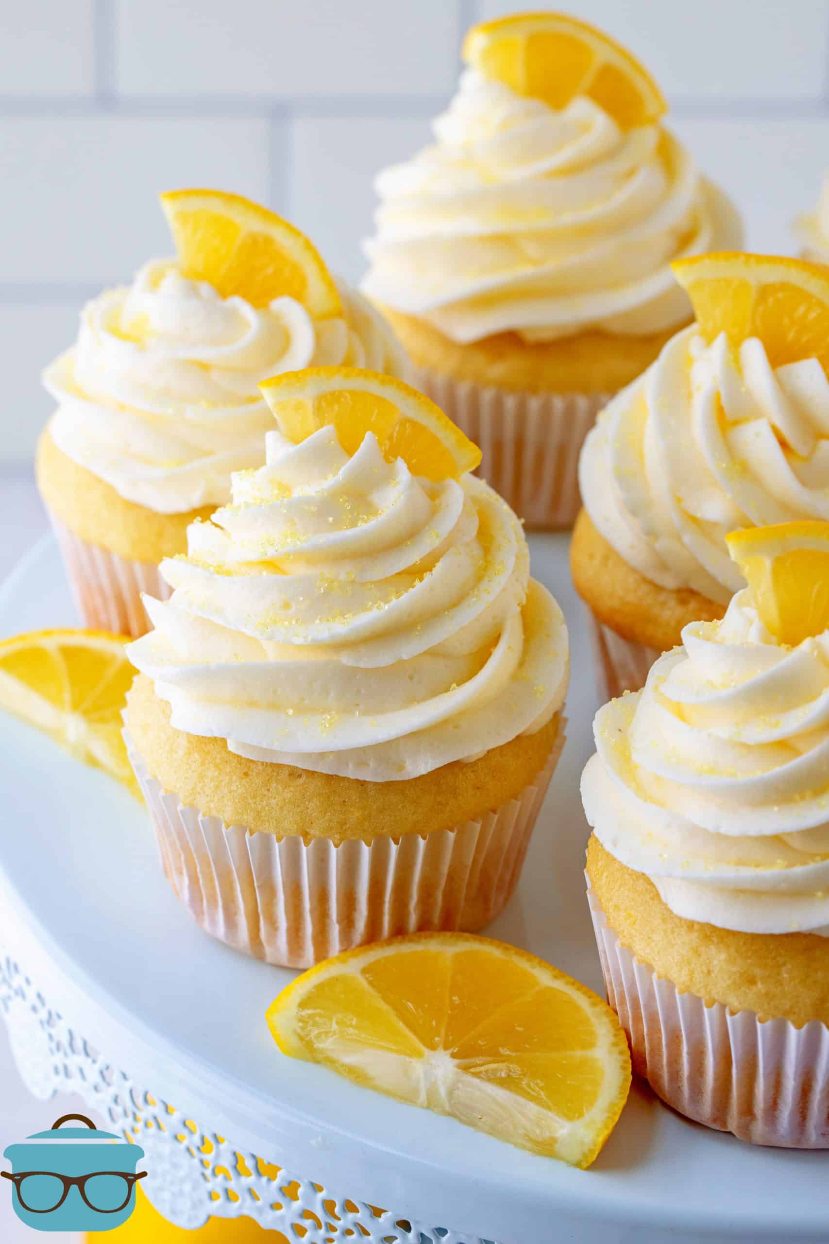
M 0 340 L 14 342 L 2 356 L 2 435 L 0 462 L 31 458 L 55 402 L 40 373 L 75 341 L 81 302 L 66 306 L 0 304 Z

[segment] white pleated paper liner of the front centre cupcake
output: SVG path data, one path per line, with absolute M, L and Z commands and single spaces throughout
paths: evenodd
M 198 924 L 245 954 L 308 968 L 399 933 L 474 932 L 505 907 L 564 745 L 516 799 L 450 830 L 399 838 L 251 833 L 183 806 L 150 776 L 124 733 L 164 875 Z

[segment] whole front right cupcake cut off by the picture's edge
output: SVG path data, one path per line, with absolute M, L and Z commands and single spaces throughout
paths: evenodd
M 590 909 L 660 1097 L 746 1141 L 829 1148 L 829 524 L 733 542 L 751 588 L 597 714 Z

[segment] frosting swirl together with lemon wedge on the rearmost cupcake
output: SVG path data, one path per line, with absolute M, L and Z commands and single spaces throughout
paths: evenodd
M 645 70 L 557 14 L 474 27 L 436 142 L 377 180 L 363 290 L 456 342 L 687 321 L 669 262 L 740 245 Z M 636 93 L 639 92 L 639 93 Z

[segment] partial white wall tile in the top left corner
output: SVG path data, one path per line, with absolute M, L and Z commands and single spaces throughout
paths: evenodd
M 93 0 L 26 0 L 0 16 L 2 96 L 89 96 L 93 82 Z

